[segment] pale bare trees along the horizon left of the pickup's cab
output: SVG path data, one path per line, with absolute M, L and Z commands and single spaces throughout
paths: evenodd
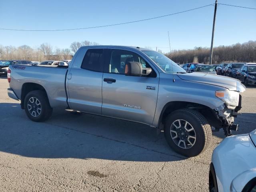
M 32 48 L 28 45 L 22 46 L 3 46 L 0 45 L 0 60 L 29 60 L 29 61 L 44 61 L 44 60 L 70 60 L 75 52 L 81 46 L 99 45 L 96 42 L 82 41 L 72 42 L 70 48 L 53 48 L 48 43 L 41 44 L 38 48 Z

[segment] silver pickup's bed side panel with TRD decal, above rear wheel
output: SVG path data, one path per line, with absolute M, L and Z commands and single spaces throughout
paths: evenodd
M 25 83 L 36 83 L 44 87 L 52 108 L 66 107 L 65 76 L 67 68 L 10 65 L 10 88 L 21 98 Z

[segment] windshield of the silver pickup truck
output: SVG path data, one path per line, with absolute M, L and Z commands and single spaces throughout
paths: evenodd
M 149 56 L 162 70 L 164 70 L 166 73 L 186 73 L 186 71 L 181 68 L 178 64 L 170 60 L 165 55 L 156 52 L 156 51 L 142 51 L 147 56 Z

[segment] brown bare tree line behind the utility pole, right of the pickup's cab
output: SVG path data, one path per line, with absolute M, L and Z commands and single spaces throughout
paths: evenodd
M 191 62 L 209 64 L 210 48 L 195 47 L 189 50 L 174 50 L 166 56 L 180 64 Z M 256 41 L 214 47 L 212 64 L 222 62 L 256 62 Z

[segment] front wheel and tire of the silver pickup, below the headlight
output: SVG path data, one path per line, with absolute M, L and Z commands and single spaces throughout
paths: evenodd
M 175 152 L 193 157 L 204 152 L 210 145 L 212 128 L 198 111 L 179 109 L 166 117 L 164 135 Z

